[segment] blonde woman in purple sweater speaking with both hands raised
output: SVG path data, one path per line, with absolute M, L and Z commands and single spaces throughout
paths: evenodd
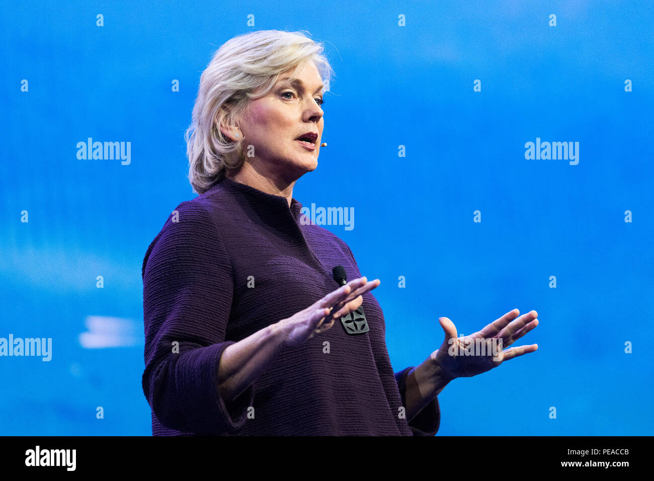
M 186 132 L 199 196 L 143 260 L 153 435 L 434 435 L 441 389 L 502 362 L 449 355 L 463 341 L 443 317 L 443 346 L 392 371 L 370 292 L 379 279 L 292 197 L 318 164 L 330 72 L 302 33 L 256 31 L 222 45 L 201 75 Z M 338 287 L 336 266 L 353 280 Z M 360 307 L 368 330 L 353 334 L 341 317 Z M 509 324 L 516 316 L 483 334 L 502 330 L 506 345 L 538 323 L 532 312 Z M 535 347 L 520 349 L 504 359 Z

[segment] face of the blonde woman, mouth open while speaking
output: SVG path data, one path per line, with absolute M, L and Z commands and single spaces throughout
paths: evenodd
M 246 162 L 267 177 L 288 183 L 313 171 L 318 166 L 324 125 L 322 87 L 315 64 L 306 62 L 280 75 L 266 96 L 250 101 L 238 124 Z M 317 134 L 312 145 L 297 140 L 307 132 Z

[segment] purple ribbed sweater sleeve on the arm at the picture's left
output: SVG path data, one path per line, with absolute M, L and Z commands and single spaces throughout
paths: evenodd
M 241 427 L 250 385 L 232 402 L 218 391 L 218 363 L 233 296 L 232 264 L 199 202 L 182 202 L 143 260 L 143 393 L 166 427 L 222 435 Z

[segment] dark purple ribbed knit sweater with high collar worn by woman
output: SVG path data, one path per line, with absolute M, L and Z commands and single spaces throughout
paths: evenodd
M 422 435 L 438 431 L 438 399 L 407 423 L 407 367 L 394 373 L 377 300 L 369 332 L 331 329 L 288 347 L 239 397 L 221 399 L 222 351 L 361 274 L 347 244 L 300 221 L 301 204 L 223 179 L 182 202 L 143 260 L 143 392 L 153 435 Z M 254 283 L 254 287 L 252 287 Z M 325 346 L 328 342 L 328 352 Z M 179 349 L 175 349 L 179 346 Z M 179 350 L 179 352 L 177 352 Z

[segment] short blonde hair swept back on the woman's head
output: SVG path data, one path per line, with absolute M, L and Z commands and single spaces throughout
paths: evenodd
M 328 90 L 334 72 L 324 45 L 304 34 L 260 30 L 237 35 L 224 43 L 200 77 L 192 123 L 184 134 L 188 180 L 203 194 L 245 162 L 243 139 L 233 141 L 220 131 L 246 109 L 250 99 L 266 96 L 279 75 L 313 61 Z

